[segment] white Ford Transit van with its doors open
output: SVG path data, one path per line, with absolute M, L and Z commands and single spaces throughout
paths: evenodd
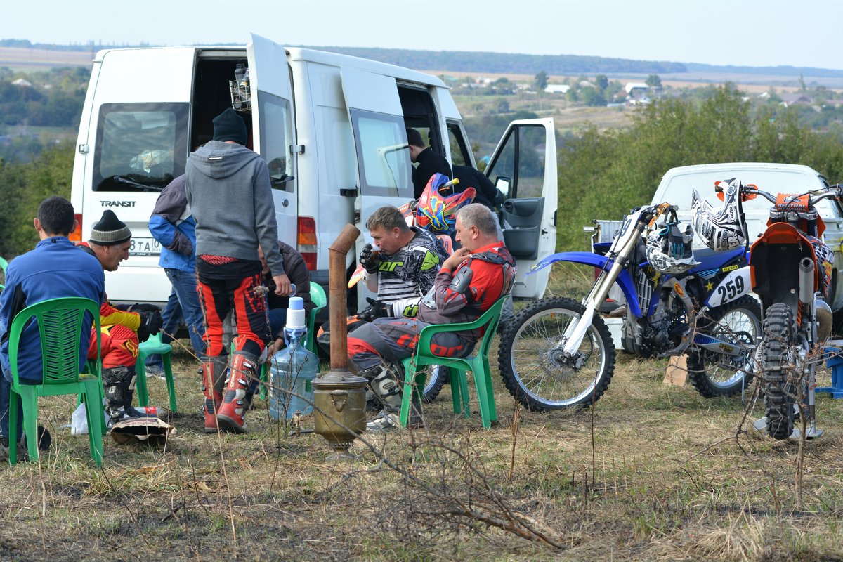
M 248 88 L 234 81 L 238 63 L 249 69 Z M 258 35 L 245 48 L 99 51 L 79 127 L 72 204 L 80 239 L 109 208 L 132 229 L 130 259 L 105 276 L 112 301 L 166 301 L 170 286 L 149 216 L 158 192 L 184 173 L 188 154 L 212 138 L 212 119 L 232 105 L 249 128 L 250 148 L 269 166 L 279 238 L 298 248 L 323 286 L 328 247 L 346 223 L 366 235 L 357 240 L 359 252 L 377 207 L 413 199 L 405 127 L 421 131 L 449 162 L 475 165 L 448 88 L 421 72 L 285 49 Z M 541 297 L 550 268 L 525 274 L 556 248 L 553 121 L 511 123 L 486 174 L 507 200 L 500 218 L 518 259 L 514 295 Z M 356 255 L 349 253 L 349 266 Z

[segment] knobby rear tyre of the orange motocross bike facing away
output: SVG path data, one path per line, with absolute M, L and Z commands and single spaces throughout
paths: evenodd
M 787 439 L 793 432 L 793 377 L 797 374 L 792 361 L 796 323 L 790 307 L 776 303 L 767 308 L 763 337 L 761 382 L 764 388 L 767 433 L 774 439 Z

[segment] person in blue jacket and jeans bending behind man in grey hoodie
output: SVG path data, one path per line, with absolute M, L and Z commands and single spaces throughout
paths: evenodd
M 183 174 L 158 195 L 153 215 L 149 217 L 149 232 L 161 243 L 158 265 L 164 268 L 173 286 L 164 308 L 161 340 L 169 343 L 171 335 L 179 329 L 181 318 L 185 318 L 196 356 L 204 356 L 205 320 L 196 294 L 196 220 L 187 205 Z M 153 375 L 163 372 L 161 356 L 149 356 L 146 370 Z

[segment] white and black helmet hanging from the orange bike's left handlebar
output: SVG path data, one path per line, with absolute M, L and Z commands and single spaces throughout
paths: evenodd
M 691 222 L 697 236 L 716 252 L 738 248 L 746 242 L 744 214 L 738 206 L 740 180 L 727 179 L 715 183 L 723 188 L 723 205 L 717 209 L 694 190 L 691 197 Z

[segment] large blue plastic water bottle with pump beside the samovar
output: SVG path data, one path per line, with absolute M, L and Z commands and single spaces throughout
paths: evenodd
M 272 356 L 270 368 L 272 391 L 269 397 L 269 413 L 276 420 L 282 417 L 292 418 L 297 411 L 301 414 L 310 414 L 313 411 L 313 389 L 310 388 L 310 381 L 319 372 L 319 358 L 304 346 L 307 333 L 304 301 L 302 297 L 290 297 L 287 325 L 284 327 L 284 342 L 287 347 Z

